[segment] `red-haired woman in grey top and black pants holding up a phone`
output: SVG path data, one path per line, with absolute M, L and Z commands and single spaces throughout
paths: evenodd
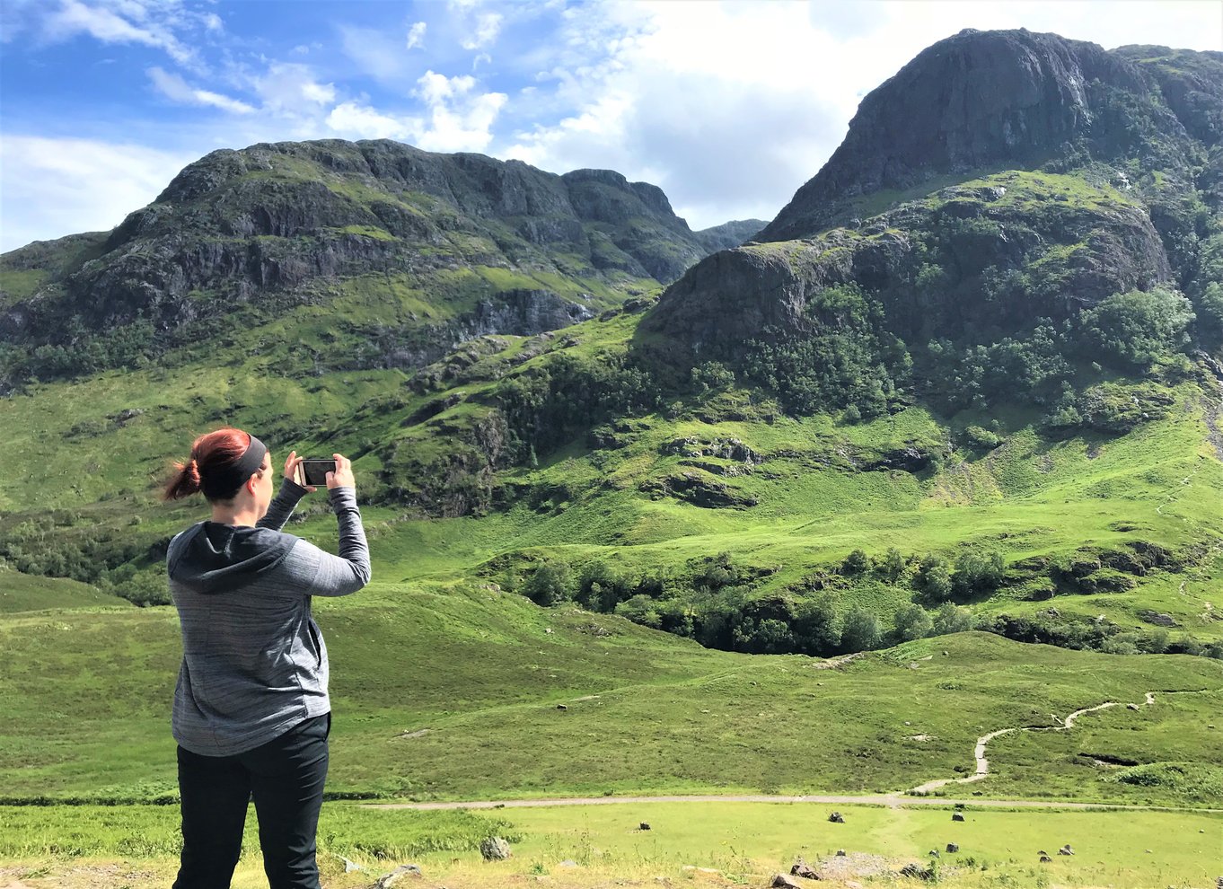
M 166 554 L 183 648 L 174 693 L 182 795 L 175 889 L 229 887 L 252 797 L 272 889 L 318 889 L 314 834 L 331 704 L 311 597 L 347 596 L 369 581 L 352 466 L 334 456 L 327 488 L 340 523 L 339 556 L 280 531 L 314 490 L 294 482 L 296 451 L 273 499 L 264 444 L 241 429 L 218 429 L 196 439 L 166 485 L 166 500 L 202 492 L 213 510 Z

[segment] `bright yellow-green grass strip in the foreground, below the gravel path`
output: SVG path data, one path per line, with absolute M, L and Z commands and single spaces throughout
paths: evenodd
M 932 801 L 931 801 L 932 802 Z M 545 885 L 555 889 L 659 885 L 768 885 L 777 873 L 789 873 L 804 858 L 823 879 L 818 885 L 916 885 L 899 874 L 911 862 L 932 867 L 948 887 L 1148 887 L 1214 885 L 1223 861 L 1223 814 L 1153 811 L 1044 811 L 986 808 L 974 801 L 965 821 L 951 819 L 951 806 L 887 808 L 846 805 L 838 811 L 844 823 L 830 823 L 824 805 L 786 802 L 706 801 L 637 802 L 618 805 L 543 806 L 498 810 L 490 830 L 512 838 L 514 855 L 504 862 L 483 862 L 477 851 L 451 851 L 434 836 L 434 851 L 394 850 L 379 845 L 386 838 L 419 836 L 421 819 L 449 813 L 372 812 L 352 803 L 328 803 L 319 828 L 320 867 L 328 889 L 369 887 L 412 862 L 422 889 L 493 889 Z M 1003 803 L 1013 806 L 1013 803 Z M 158 822 L 172 829 L 174 807 L 111 807 L 108 823 L 131 827 Z M 152 810 L 152 811 L 150 811 Z M 26 828 L 48 812 L 32 813 Z M 95 810 L 60 816 L 88 821 Z M 467 819 L 493 816 L 466 814 Z M 411 821 L 405 821 L 411 819 Z M 0 811 L 0 824 L 20 827 L 21 811 Z M 648 829 L 645 825 L 648 824 Z M 83 828 L 84 824 L 78 824 Z M 253 823 L 248 834 L 253 839 Z M 157 830 L 154 830 L 157 833 Z M 947 851 L 948 844 L 958 851 Z M 379 857 L 357 846 L 380 849 Z M 1068 846 L 1074 855 L 1059 855 Z M 342 849 L 342 855 L 336 849 Z M 844 850 L 844 856 L 837 851 Z M 929 855 L 939 851 L 938 857 Z M 152 889 L 174 876 L 172 855 L 152 857 L 57 856 L 9 861 L 0 865 L 2 889 Z M 267 885 L 260 862 L 248 841 L 247 855 L 235 876 L 235 889 Z M 1051 861 L 1042 863 L 1041 854 Z M 345 873 L 345 858 L 361 869 Z M 800 885 L 816 885 L 796 880 Z

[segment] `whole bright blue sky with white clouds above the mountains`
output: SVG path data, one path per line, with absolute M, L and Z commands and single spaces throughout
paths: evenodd
M 0 249 L 109 229 L 215 148 L 395 138 L 772 218 L 961 28 L 1223 49 L 1219 0 L 4 0 Z

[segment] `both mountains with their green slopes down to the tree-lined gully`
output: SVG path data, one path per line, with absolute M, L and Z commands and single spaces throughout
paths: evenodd
M 351 455 L 375 567 L 439 597 L 753 653 L 1223 653 L 1221 71 L 958 34 L 763 231 L 609 171 L 209 155 L 5 257 L 0 556 L 163 602 L 157 479 L 235 423 Z

